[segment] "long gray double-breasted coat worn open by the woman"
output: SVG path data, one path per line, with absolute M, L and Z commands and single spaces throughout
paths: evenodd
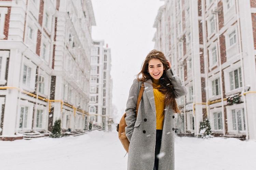
M 174 87 L 174 96 L 179 98 L 187 94 L 181 79 L 166 71 L 167 77 Z M 156 107 L 151 79 L 144 82 L 144 92 L 138 109 L 136 120 L 136 105 L 142 82 L 134 79 L 126 104 L 125 133 L 130 141 L 128 153 L 128 170 L 153 170 L 156 145 Z M 169 106 L 165 107 L 162 141 L 159 159 L 159 170 L 174 170 L 174 113 Z

